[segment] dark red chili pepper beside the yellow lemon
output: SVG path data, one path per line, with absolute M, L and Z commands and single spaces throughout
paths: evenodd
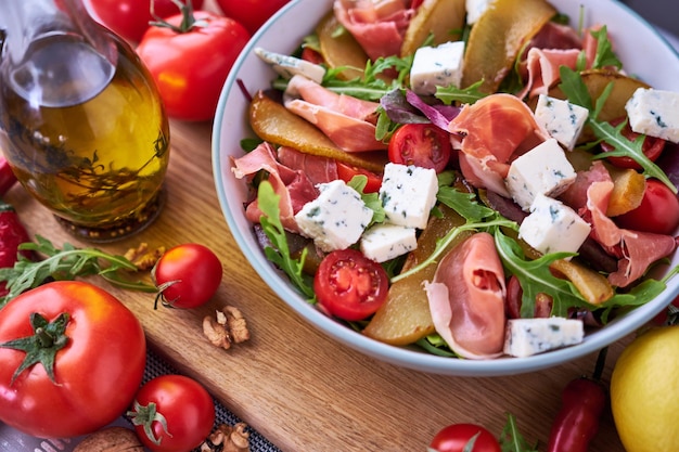
M 593 377 L 580 377 L 566 385 L 562 408 L 552 424 L 548 452 L 587 452 L 599 430 L 599 422 L 606 405 L 606 388 L 600 379 L 606 348 L 599 352 Z

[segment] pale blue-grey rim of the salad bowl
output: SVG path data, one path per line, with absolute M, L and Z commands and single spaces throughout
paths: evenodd
M 329 5 L 332 4 L 333 0 L 313 0 L 313 2 L 318 2 L 318 4 L 325 4 L 326 11 L 329 11 Z M 675 57 L 679 60 L 679 53 L 669 44 L 667 39 L 648 22 L 645 22 L 639 14 L 629 9 L 629 7 L 614 0 L 590 0 L 585 3 L 589 4 L 597 2 L 603 2 L 604 4 L 615 3 L 616 8 L 623 9 L 627 14 L 630 14 L 636 22 L 652 31 L 656 39 L 659 40 L 658 42 L 669 49 L 671 51 L 670 53 L 674 53 Z M 234 91 L 239 90 L 238 79 L 240 78 L 240 69 L 248 61 L 248 59 L 256 57 L 252 56 L 254 54 L 253 50 L 259 46 L 259 41 L 267 35 L 269 29 L 278 24 L 282 17 L 287 15 L 292 10 L 303 8 L 302 3 L 304 3 L 304 0 L 293 0 L 279 10 L 253 36 L 236 59 L 233 68 L 225 82 L 218 102 L 213 126 L 212 154 L 214 180 L 219 204 L 230 232 L 239 245 L 241 253 L 243 253 L 262 282 L 267 284 L 279 298 L 286 302 L 296 312 L 296 314 L 300 315 L 311 326 L 328 334 L 333 339 L 353 348 L 355 351 L 364 353 L 380 361 L 407 369 L 456 376 L 502 376 L 534 372 L 594 353 L 601 348 L 613 344 L 642 327 L 657 313 L 659 313 L 662 309 L 671 301 L 671 299 L 679 295 L 679 277 L 675 277 L 669 281 L 667 288 L 661 296 L 646 305 L 636 308 L 636 315 L 631 318 L 629 315 L 625 315 L 611 321 L 605 328 L 602 328 L 591 335 L 586 335 L 585 340 L 581 344 L 526 358 L 508 357 L 496 360 L 478 361 L 439 357 L 428 352 L 412 350 L 408 347 L 397 347 L 380 343 L 346 327 L 306 302 L 289 284 L 287 277 L 281 272 L 278 272 L 266 259 L 260 248 L 258 246 L 252 246 L 253 244 L 256 244 L 252 228 L 249 228 L 249 231 L 244 232 L 241 228 L 242 219 L 236 219 L 233 215 L 233 212 L 239 211 L 239 209 L 241 211 L 244 210 L 240 199 L 234 199 L 232 196 L 229 196 L 225 190 L 225 179 L 228 177 L 225 175 L 231 173 L 230 163 L 225 160 L 229 160 L 230 155 L 222 155 L 221 147 L 221 142 L 226 134 L 222 130 L 225 118 L 228 117 L 228 114 L 232 114 L 228 112 L 227 105 L 230 101 L 230 95 L 232 95 Z M 238 139 L 240 140 L 243 137 L 239 137 Z

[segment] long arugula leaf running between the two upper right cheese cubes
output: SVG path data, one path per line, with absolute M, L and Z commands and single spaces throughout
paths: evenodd
M 629 157 L 637 162 L 643 169 L 643 175 L 646 178 L 656 178 L 662 181 L 672 193 L 677 193 L 677 186 L 669 180 L 665 171 L 663 171 L 657 165 L 655 165 L 643 153 L 643 140 L 645 135 L 638 137 L 635 141 L 628 140 L 623 134 L 623 128 L 627 121 L 623 121 L 617 127 L 614 127 L 610 122 L 597 119 L 603 105 L 606 102 L 612 89 L 613 82 L 608 83 L 602 94 L 597 100 L 597 104 L 592 104 L 592 99 L 589 95 L 587 86 L 582 80 L 579 73 L 571 69 L 567 66 L 561 66 L 560 68 L 561 83 L 559 88 L 566 94 L 569 102 L 586 107 L 589 111 L 587 118 L 587 125 L 591 128 L 597 137 L 598 141 L 605 141 L 614 147 L 614 151 L 601 153 L 594 155 L 593 158 L 605 157 Z

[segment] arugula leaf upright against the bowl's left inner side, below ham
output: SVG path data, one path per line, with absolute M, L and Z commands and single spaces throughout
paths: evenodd
M 276 194 L 271 182 L 262 181 L 257 190 L 257 202 L 259 209 L 264 214 L 259 219 L 261 229 L 273 247 L 266 246 L 264 249 L 267 259 L 276 263 L 287 274 L 291 283 L 308 298 L 309 302 L 316 300 L 311 277 L 304 273 L 304 260 L 307 256 L 306 248 L 302 251 L 302 257 L 295 259 L 290 254 L 285 229 L 281 223 L 281 209 L 279 207 L 281 197 Z

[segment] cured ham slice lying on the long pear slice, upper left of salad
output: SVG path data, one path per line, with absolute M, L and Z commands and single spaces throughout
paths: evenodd
M 290 80 L 285 94 L 289 111 L 318 127 L 342 150 L 386 150 L 387 145 L 375 139 L 375 125 L 370 121 L 379 103 L 334 93 L 303 76 Z

